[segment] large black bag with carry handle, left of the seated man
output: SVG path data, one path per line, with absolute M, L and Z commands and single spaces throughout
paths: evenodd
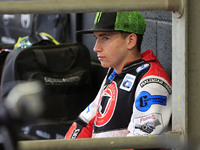
M 75 119 L 91 100 L 90 69 L 89 51 L 81 44 L 15 50 L 5 64 L 1 99 L 5 101 L 13 83 L 39 80 L 45 88 L 43 117 Z

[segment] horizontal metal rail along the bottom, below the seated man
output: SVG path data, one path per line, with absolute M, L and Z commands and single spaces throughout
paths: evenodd
M 182 142 L 181 132 L 168 132 L 165 135 L 138 137 L 21 141 L 18 142 L 18 150 L 177 148 L 182 147 Z

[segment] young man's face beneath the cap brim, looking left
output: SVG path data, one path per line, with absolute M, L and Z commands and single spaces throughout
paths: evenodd
M 128 59 L 127 38 L 122 38 L 120 32 L 94 32 L 96 44 L 94 51 L 104 68 L 114 68 L 121 71 Z

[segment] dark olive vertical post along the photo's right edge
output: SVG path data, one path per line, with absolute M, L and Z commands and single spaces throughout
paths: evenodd
M 191 145 L 200 146 L 199 127 L 200 118 L 200 1 L 188 0 L 188 142 Z

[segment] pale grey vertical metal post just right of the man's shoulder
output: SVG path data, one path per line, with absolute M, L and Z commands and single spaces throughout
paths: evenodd
M 188 138 L 188 0 L 182 16 L 172 15 L 172 130 L 181 128 Z M 196 78 L 195 78 L 196 79 Z M 197 100 L 196 100 L 197 101 Z

